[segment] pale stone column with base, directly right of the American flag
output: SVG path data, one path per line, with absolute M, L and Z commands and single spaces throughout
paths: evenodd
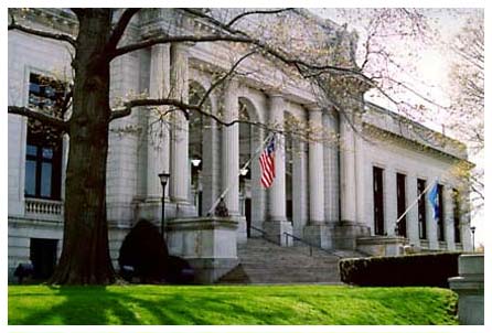
M 285 101 L 281 95 L 269 97 L 269 121 L 278 128 L 284 127 Z M 286 153 L 284 136 L 277 135 L 275 142 L 275 179 L 268 189 L 268 219 L 265 230 L 282 246 L 293 244 L 285 233 L 292 234 L 292 224 L 286 217 Z

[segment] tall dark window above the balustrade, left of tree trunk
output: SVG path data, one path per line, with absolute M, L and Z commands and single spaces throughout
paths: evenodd
M 29 107 L 60 116 L 64 86 L 50 77 L 31 74 Z M 62 133 L 56 129 L 28 121 L 24 195 L 50 200 L 61 198 Z

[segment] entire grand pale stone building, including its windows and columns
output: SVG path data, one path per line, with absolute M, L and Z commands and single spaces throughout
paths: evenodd
M 210 29 L 178 13 L 143 10 L 126 41 L 163 31 Z M 354 36 L 343 28 L 313 19 L 354 47 Z M 53 22 L 65 32 L 76 28 L 72 14 L 63 10 L 32 10 L 24 20 L 41 29 L 53 29 Z M 352 49 L 346 56 L 352 56 Z M 9 31 L 8 52 L 9 105 L 55 107 L 61 97 L 57 86 L 71 75 L 66 45 Z M 118 57 L 111 63 L 111 96 L 117 100 L 148 92 L 150 97 L 192 101 L 211 86 L 211 68 L 231 65 L 228 52 L 217 43 L 165 44 Z M 253 71 L 258 64 L 264 65 L 261 58 L 245 62 L 243 68 Z M 360 117 L 347 121 L 320 105 L 309 84 L 286 80 L 280 72 L 264 66 L 255 75 L 239 76 L 213 90 L 206 103 L 225 120 L 243 117 L 282 126 L 298 119 L 341 138 L 341 144 L 334 144 L 278 136 L 276 178 L 268 190 L 259 181 L 258 153 L 268 136 L 261 127 L 223 127 L 206 117 L 192 115 L 186 120 L 180 114 L 162 126 L 143 109 L 111 122 L 106 194 L 115 262 L 125 235 L 139 218 L 160 224 L 160 172 L 170 173 L 165 190 L 170 253 L 190 260 L 202 281 L 216 280 L 235 267 L 240 260 L 237 245 L 258 237 L 259 230 L 281 246 L 291 246 L 289 235 L 293 235 L 325 249 L 372 255 L 396 255 L 405 244 L 421 250 L 470 250 L 469 217 L 461 214 L 468 193 L 450 172 L 467 161 L 462 143 L 368 103 Z M 68 138 L 34 132 L 20 116 L 9 115 L 8 121 L 9 277 L 19 262 L 29 260 L 45 277 L 62 248 Z M 442 207 L 439 222 L 423 197 L 397 226 L 398 217 L 436 180 Z M 207 214 L 221 194 L 229 217 Z

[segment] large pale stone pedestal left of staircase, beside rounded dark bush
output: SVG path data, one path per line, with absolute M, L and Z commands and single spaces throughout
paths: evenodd
M 195 282 L 211 283 L 237 266 L 237 221 L 231 217 L 194 217 L 168 223 L 169 254 L 195 269 Z

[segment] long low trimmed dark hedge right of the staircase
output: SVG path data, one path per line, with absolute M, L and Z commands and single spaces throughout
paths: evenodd
M 458 276 L 460 253 L 437 253 L 399 257 L 340 260 L 340 278 L 356 286 L 428 286 L 448 288 Z

